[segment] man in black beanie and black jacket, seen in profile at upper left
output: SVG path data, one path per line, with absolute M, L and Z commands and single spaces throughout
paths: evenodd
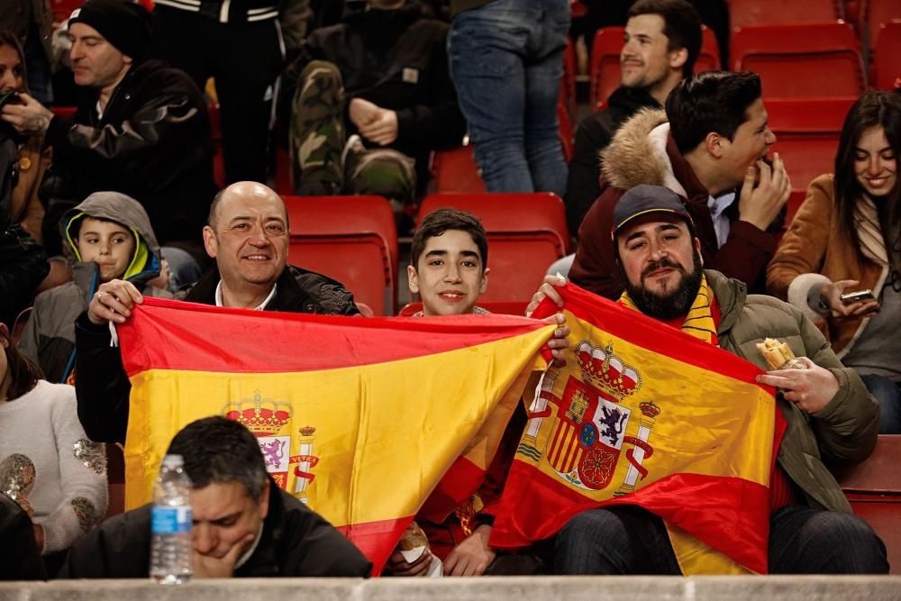
M 73 120 L 27 94 L 0 114 L 16 131 L 43 135 L 53 147 L 53 168 L 41 187 L 49 204 L 45 232 L 91 193 L 122 192 L 150 216 L 172 272 L 170 287 L 196 280 L 216 192 L 204 96 L 184 72 L 145 58 L 150 14 L 141 5 L 87 0 L 69 18 L 68 34 L 75 83 L 87 92 Z

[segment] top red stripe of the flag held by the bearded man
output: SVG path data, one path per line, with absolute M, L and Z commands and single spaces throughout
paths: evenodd
M 661 326 L 659 320 L 594 295 L 572 283 L 567 283 L 566 287 L 557 290 L 563 297 L 565 311 L 571 312 L 578 319 L 594 323 L 599 330 L 629 341 L 630 344 L 742 382 L 756 384 L 757 375 L 763 373 L 753 364 L 731 352 L 718 347 L 711 350 L 711 345 L 705 341 L 689 336 L 676 328 Z M 558 312 L 560 308 L 556 303 L 550 298 L 545 298 L 532 313 L 532 317 L 542 319 Z M 542 352 L 545 359 L 550 360 L 550 353 L 546 350 Z M 770 395 L 775 394 L 772 387 L 762 384 L 757 386 Z

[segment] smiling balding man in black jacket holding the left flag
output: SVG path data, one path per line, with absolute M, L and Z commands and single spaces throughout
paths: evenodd
M 214 268 L 177 297 L 258 311 L 359 314 L 341 283 L 287 265 L 288 221 L 275 191 L 238 182 L 215 196 L 204 228 Z M 78 419 L 98 442 L 124 442 L 131 384 L 118 348 L 110 347 L 109 322 L 124 323 L 141 294 L 130 282 L 102 284 L 75 326 Z

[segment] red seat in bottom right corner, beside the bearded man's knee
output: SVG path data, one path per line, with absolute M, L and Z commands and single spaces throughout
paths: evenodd
M 834 469 L 835 477 L 860 516 L 886 543 L 891 574 L 901 574 L 901 435 L 880 434 L 869 458 L 855 466 Z

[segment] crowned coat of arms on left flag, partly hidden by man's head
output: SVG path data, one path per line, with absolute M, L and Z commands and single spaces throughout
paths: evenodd
M 231 401 L 223 406 L 225 417 L 243 424 L 259 442 L 266 470 L 278 487 L 289 490 L 288 477 L 295 466 L 294 495 L 306 500 L 306 487 L 315 478 L 312 469 L 319 462 L 313 455 L 313 434 L 316 429 L 305 425 L 292 435 L 294 407 L 289 403 L 263 398 L 259 390 L 253 398 Z M 292 451 L 296 454 L 292 455 Z

